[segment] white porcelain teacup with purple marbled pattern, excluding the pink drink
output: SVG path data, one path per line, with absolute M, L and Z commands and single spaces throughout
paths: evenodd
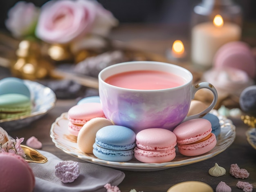
M 156 70 L 173 73 L 185 79 L 185 84 L 158 90 L 136 90 L 113 86 L 105 79 L 127 71 Z M 208 82 L 192 85 L 193 75 L 174 64 L 135 61 L 114 64 L 99 73 L 99 97 L 105 116 L 114 124 L 126 126 L 135 133 L 146 128 L 173 130 L 182 121 L 204 116 L 216 105 L 218 95 Z M 212 103 L 196 115 L 187 116 L 195 92 L 207 88 L 213 93 Z

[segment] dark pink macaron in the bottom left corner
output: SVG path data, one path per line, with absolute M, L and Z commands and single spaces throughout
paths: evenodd
M 0 153 L 1 192 L 32 192 L 35 176 L 29 164 L 18 154 Z

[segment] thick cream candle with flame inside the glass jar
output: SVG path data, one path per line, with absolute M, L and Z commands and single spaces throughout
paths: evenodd
M 227 42 L 238 41 L 241 28 L 237 24 L 223 22 L 216 15 L 212 22 L 195 25 L 191 31 L 191 60 L 194 64 L 210 67 L 216 51 Z

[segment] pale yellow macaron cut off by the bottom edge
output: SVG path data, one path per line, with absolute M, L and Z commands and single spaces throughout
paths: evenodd
M 213 192 L 210 185 L 200 181 L 185 181 L 177 183 L 167 190 L 167 192 Z

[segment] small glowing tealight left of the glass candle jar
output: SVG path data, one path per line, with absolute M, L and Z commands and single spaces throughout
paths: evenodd
M 167 55 L 171 60 L 180 60 L 186 57 L 184 45 L 181 40 L 175 40 L 173 42 L 172 49 L 168 50 Z

